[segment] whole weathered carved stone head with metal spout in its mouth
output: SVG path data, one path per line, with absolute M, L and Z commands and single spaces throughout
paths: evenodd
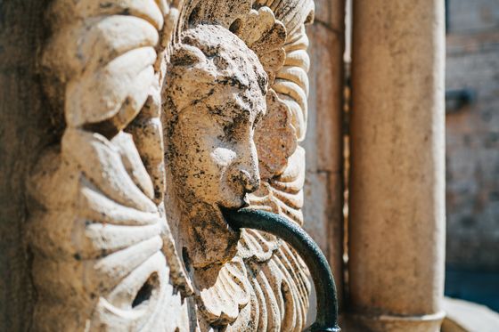
M 179 228 L 194 267 L 224 263 L 239 234 L 220 207 L 258 189 L 253 140 L 266 111 L 267 78 L 255 53 L 225 28 L 188 30 L 168 71 L 167 160 L 179 199 Z M 217 240 L 214 240 L 217 239 Z

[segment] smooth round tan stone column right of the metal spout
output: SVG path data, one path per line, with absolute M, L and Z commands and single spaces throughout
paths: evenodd
M 354 330 L 438 331 L 443 318 L 444 31 L 443 1 L 354 4 Z

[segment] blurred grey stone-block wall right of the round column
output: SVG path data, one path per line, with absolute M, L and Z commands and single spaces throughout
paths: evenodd
M 446 263 L 499 270 L 499 3 L 448 0 L 446 41 Z

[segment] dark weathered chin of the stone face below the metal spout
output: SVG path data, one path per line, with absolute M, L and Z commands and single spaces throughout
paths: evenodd
M 181 223 L 184 247 L 189 253 L 184 257 L 186 265 L 205 269 L 233 259 L 241 233 L 225 222 L 220 207 L 197 204 L 192 206 L 187 219 Z

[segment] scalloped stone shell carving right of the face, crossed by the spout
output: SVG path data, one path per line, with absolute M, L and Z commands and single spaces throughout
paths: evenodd
M 252 3 L 250 10 L 247 2 L 241 2 L 235 9 L 232 7 L 235 1 L 223 5 L 218 1 L 204 4 L 193 1 L 184 15 L 190 18 L 189 28 L 200 23 L 229 28 L 258 55 L 266 69 L 270 82 L 267 113 L 255 134 L 262 185 L 249 195 L 250 207 L 273 211 L 301 224 L 305 156 L 303 149 L 297 149 L 297 142 L 306 130 L 308 89 L 307 43 L 304 43 L 307 39 L 303 24 L 313 16 L 313 3 L 311 0 Z M 225 7 L 218 8 L 219 5 Z M 201 77 L 200 81 L 203 80 Z M 187 98 L 184 102 L 196 99 Z M 201 310 L 208 311 L 204 315 L 212 325 L 220 324 L 227 330 L 255 331 L 303 328 L 310 286 L 307 268 L 301 259 L 286 244 L 259 231 L 241 231 L 237 249 L 237 256 L 246 266 L 245 278 L 251 285 L 249 302 L 233 320 L 233 317 L 227 319 L 226 314 L 235 308 L 233 304 L 223 304 L 222 297 L 217 297 L 220 299 L 217 304 L 225 307 L 222 311 L 215 304 L 207 305 L 212 304 L 210 296 L 201 298 Z

